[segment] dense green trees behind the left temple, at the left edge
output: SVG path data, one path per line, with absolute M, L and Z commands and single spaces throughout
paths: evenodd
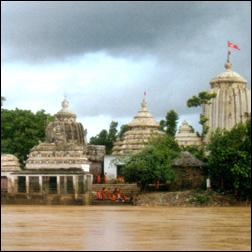
M 45 127 L 53 117 L 44 110 L 1 110 L 1 153 L 16 155 L 24 165 L 30 149 L 45 139 Z

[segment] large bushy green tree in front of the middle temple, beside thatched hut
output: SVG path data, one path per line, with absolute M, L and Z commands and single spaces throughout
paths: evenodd
M 126 161 L 122 173 L 127 182 L 137 182 L 141 188 L 157 180 L 173 181 L 175 173 L 172 160 L 178 155 L 179 147 L 171 136 L 153 139 L 140 153 L 132 155 Z

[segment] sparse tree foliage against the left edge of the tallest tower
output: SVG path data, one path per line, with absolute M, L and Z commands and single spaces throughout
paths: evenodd
M 216 97 L 215 93 L 208 93 L 208 92 L 203 91 L 203 92 L 200 92 L 198 96 L 194 95 L 193 97 L 188 99 L 187 106 L 191 108 L 191 107 L 199 107 L 205 104 L 210 104 L 211 100 L 215 97 Z M 207 134 L 209 130 L 209 127 L 206 125 L 207 121 L 208 121 L 208 118 L 205 115 L 200 114 L 199 123 L 202 125 L 202 134 L 201 134 L 202 139 L 204 138 L 204 136 Z

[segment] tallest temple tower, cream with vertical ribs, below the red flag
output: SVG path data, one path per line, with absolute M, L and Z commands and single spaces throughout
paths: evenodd
M 209 133 L 217 128 L 231 129 L 251 115 L 251 92 L 246 84 L 247 81 L 232 70 L 228 56 L 225 71 L 210 81 L 209 92 L 215 93 L 216 97 L 203 106 Z

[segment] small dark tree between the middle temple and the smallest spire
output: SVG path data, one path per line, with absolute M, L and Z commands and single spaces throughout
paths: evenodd
M 178 114 L 175 110 L 167 112 L 165 120 L 161 120 L 160 129 L 166 132 L 167 135 L 174 137 L 177 131 Z

